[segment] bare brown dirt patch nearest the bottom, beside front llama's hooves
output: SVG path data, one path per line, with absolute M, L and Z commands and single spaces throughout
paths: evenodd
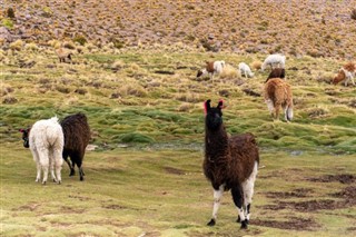
M 314 219 L 308 218 L 299 218 L 299 217 L 290 217 L 286 221 L 278 220 L 263 220 L 263 219 L 254 219 L 251 220 L 251 225 L 271 227 L 277 229 L 293 229 L 293 230 L 314 230 L 320 227 Z

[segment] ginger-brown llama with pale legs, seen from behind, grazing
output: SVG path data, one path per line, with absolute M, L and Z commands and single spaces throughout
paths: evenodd
M 293 119 L 293 95 L 290 86 L 280 78 L 271 78 L 265 83 L 265 102 L 271 117 L 279 119 L 279 110 L 283 107 L 287 122 Z

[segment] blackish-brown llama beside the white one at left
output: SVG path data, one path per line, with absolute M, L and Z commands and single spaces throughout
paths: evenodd
M 65 134 L 63 159 L 69 166 L 70 175 L 76 174 L 75 166 L 79 169 L 80 180 L 83 180 L 82 160 L 86 154 L 86 147 L 90 140 L 90 128 L 86 115 L 76 113 L 67 116 L 60 124 Z M 68 160 L 70 157 L 70 160 Z

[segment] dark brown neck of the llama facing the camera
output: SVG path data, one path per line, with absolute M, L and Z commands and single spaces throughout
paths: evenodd
M 224 126 L 221 126 L 216 131 L 206 128 L 206 158 L 209 160 L 216 160 L 219 159 L 219 157 L 225 157 L 229 152 L 228 139 L 229 138 L 225 131 Z

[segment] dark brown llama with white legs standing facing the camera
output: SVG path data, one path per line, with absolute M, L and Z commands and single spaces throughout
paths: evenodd
M 259 152 L 254 135 L 228 136 L 222 124 L 222 101 L 216 108 L 205 102 L 205 159 L 204 174 L 214 188 L 214 226 L 224 191 L 231 189 L 241 228 L 247 228 L 254 186 L 259 164 Z

